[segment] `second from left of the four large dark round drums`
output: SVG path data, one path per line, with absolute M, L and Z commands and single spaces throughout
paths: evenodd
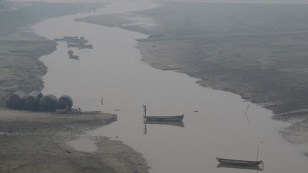
M 39 110 L 39 100 L 43 98 L 43 94 L 39 91 L 32 91 L 24 98 L 24 110 Z

